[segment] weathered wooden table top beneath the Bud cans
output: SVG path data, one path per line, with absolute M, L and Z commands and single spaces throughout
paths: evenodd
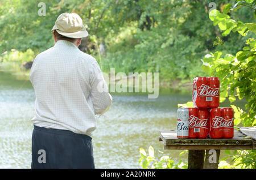
M 164 149 L 231 149 L 249 150 L 256 147 L 256 127 L 240 127 L 234 130 L 232 139 L 179 139 L 176 130 L 160 131 L 159 140 L 164 142 Z

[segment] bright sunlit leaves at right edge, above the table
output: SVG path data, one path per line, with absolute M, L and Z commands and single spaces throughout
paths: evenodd
M 240 2 L 240 1 L 239 1 Z M 244 3 L 239 3 L 233 6 L 234 9 L 242 7 Z M 249 5 L 246 5 L 249 6 Z M 254 8 L 254 3 L 250 5 Z M 218 10 L 213 10 L 209 14 L 209 18 L 214 25 L 220 27 L 226 36 L 231 31 L 238 32 L 242 36 L 246 36 L 250 31 L 256 33 L 256 23 L 243 23 L 233 19 L 230 16 L 220 13 Z M 220 25 L 221 24 L 221 25 Z M 230 25 L 227 25 L 230 24 Z M 225 27 L 226 25 L 226 27 Z M 232 104 L 237 98 L 240 100 L 245 98 L 245 111 L 232 105 L 235 112 L 235 125 L 240 122 L 244 126 L 256 125 L 256 45 L 254 38 L 246 40 L 246 46 L 238 51 L 236 55 L 226 54 L 222 52 L 215 52 L 214 54 L 205 55 L 203 58 L 203 70 L 209 72 L 210 76 L 217 76 L 220 78 L 221 88 L 220 97 L 221 102 L 227 97 Z M 229 92 L 229 93 L 228 93 Z

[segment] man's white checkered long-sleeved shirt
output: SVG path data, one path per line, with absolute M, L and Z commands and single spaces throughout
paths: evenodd
M 59 40 L 38 54 L 30 72 L 35 89 L 35 126 L 91 136 L 95 114 L 105 113 L 112 96 L 98 91 L 106 82 L 96 59 L 72 42 Z

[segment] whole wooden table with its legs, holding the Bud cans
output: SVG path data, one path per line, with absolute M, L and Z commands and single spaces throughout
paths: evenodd
M 256 149 L 256 127 L 240 127 L 239 130 L 234 130 L 232 139 L 178 139 L 176 130 L 164 130 L 160 131 L 159 140 L 164 142 L 164 149 L 188 149 L 189 169 L 218 168 L 221 149 Z M 211 149 L 216 152 L 216 163 L 208 160 L 211 155 L 209 152 L 214 153 Z

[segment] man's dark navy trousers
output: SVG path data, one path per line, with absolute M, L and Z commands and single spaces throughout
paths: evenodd
M 31 168 L 94 168 L 92 138 L 34 126 Z

